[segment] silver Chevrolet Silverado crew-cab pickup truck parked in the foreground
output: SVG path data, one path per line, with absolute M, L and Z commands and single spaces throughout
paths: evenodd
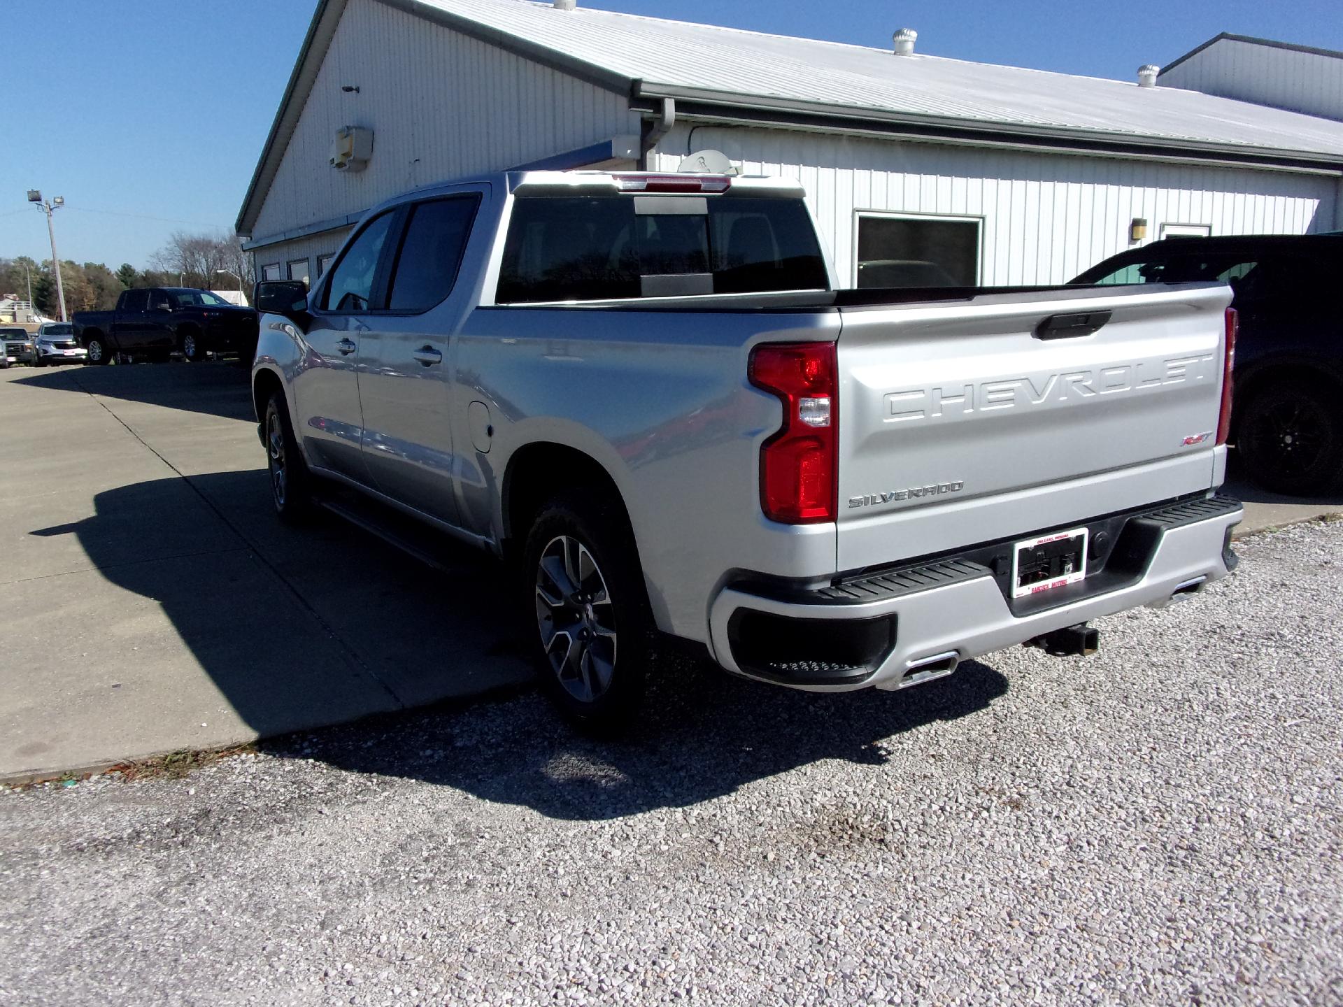
M 794 183 L 520 172 L 371 211 L 254 397 L 282 518 L 342 483 L 512 559 L 610 722 L 666 636 L 900 689 L 1226 576 L 1230 297 L 837 290 Z

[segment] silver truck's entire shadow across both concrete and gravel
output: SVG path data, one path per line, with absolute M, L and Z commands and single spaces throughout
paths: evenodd
M 449 568 L 435 571 L 334 517 L 282 526 L 265 470 L 121 486 L 94 505 L 30 536 L 74 536 L 102 577 L 156 603 L 239 717 L 271 738 L 263 751 L 553 818 L 686 807 L 827 759 L 880 765 L 900 734 L 1007 690 L 978 662 L 900 693 L 817 696 L 667 655 L 646 717 L 619 740 L 594 738 L 532 686 L 532 628 L 504 567 L 482 553 L 445 541 Z M 149 702 L 199 674 L 175 661 Z

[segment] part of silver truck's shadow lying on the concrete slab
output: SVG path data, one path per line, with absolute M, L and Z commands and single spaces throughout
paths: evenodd
M 99 632 L 154 655 L 128 674 L 168 716 L 188 717 L 173 693 L 201 673 L 262 737 L 529 678 L 513 627 L 492 618 L 498 564 L 461 549 L 438 572 L 322 514 L 287 528 L 269 494 L 263 469 L 118 486 L 91 517 L 34 526 L 24 548 L 121 588 Z

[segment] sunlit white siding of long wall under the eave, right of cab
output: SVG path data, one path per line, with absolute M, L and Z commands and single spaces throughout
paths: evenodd
M 1214 235 L 1328 231 L 1339 188 L 1315 175 L 748 126 L 696 126 L 692 144 L 689 132 L 669 133 L 653 166 L 676 169 L 693 145 L 723 150 L 747 175 L 799 180 L 846 286 L 864 209 L 982 218 L 982 283 L 1064 283 L 1132 247 L 1135 218 L 1147 220 L 1148 240 L 1166 223 L 1209 224 Z

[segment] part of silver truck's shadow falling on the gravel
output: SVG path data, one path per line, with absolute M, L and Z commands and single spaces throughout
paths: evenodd
M 643 718 L 619 740 L 560 720 L 539 693 L 439 708 L 265 742 L 282 757 L 422 780 L 548 818 L 607 820 L 686 808 L 827 760 L 886 767 L 901 734 L 971 716 L 1006 694 L 987 665 L 900 693 L 818 696 L 733 678 L 708 662 L 665 661 Z M 911 784 L 925 773 L 901 767 Z

